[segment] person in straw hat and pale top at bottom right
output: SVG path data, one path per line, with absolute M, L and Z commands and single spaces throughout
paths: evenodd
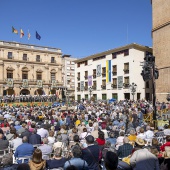
M 145 141 L 137 138 L 135 141 L 138 148 L 130 158 L 130 165 L 133 170 L 159 170 L 158 158 L 152 154 L 145 146 Z

